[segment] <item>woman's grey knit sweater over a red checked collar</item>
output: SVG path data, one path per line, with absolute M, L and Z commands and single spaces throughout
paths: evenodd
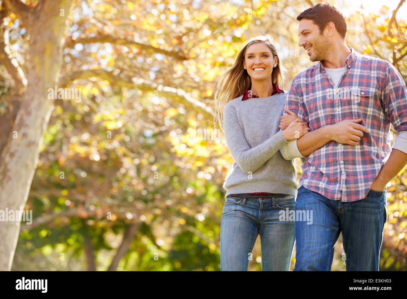
M 243 101 L 242 96 L 230 100 L 223 114 L 226 143 L 235 161 L 223 183 L 225 197 L 252 192 L 295 196 L 293 160 L 279 151 L 288 143 L 278 127 L 286 94 Z

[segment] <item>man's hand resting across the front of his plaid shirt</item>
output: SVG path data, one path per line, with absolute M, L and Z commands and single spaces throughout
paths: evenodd
M 342 120 L 336 124 L 329 125 L 330 139 L 343 144 L 358 145 L 363 132 L 369 133 L 361 124 L 362 119 Z

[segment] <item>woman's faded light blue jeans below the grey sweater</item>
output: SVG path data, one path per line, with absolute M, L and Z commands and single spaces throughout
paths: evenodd
M 295 221 L 280 219 L 282 212 L 294 208 L 293 195 L 269 199 L 228 196 L 221 221 L 221 271 L 247 271 L 258 234 L 262 271 L 288 271 Z

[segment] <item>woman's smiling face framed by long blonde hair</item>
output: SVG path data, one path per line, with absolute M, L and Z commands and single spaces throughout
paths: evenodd
M 278 57 L 273 57 L 269 47 L 263 43 L 256 43 L 247 48 L 243 65 L 252 80 L 262 81 L 271 78 L 277 61 Z

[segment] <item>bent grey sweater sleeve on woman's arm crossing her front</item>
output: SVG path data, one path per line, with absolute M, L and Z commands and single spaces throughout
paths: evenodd
M 233 105 L 226 105 L 223 115 L 225 138 L 229 151 L 236 164 L 245 173 L 253 173 L 258 170 L 282 145 L 287 143 L 282 131 L 278 131 L 265 142 L 250 148 Z

